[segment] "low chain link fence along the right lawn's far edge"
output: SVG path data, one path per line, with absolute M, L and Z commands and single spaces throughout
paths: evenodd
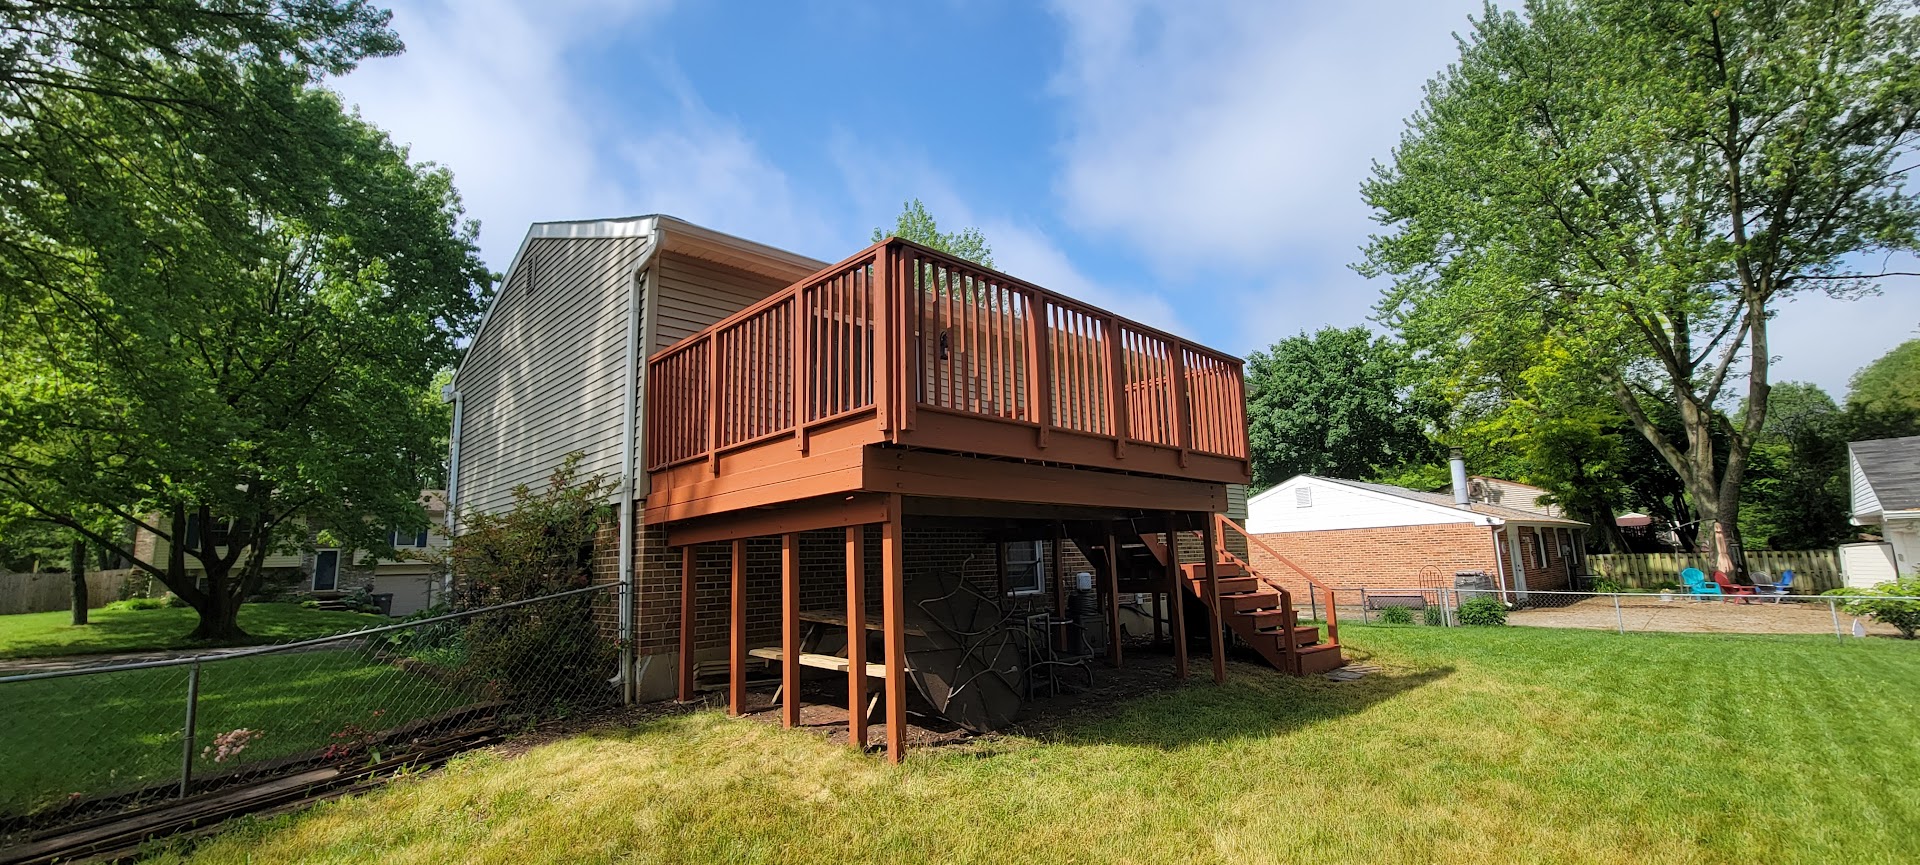
M 1492 598 L 1507 625 L 1619 633 L 1751 633 L 1899 637 L 1893 625 L 1847 612 L 1851 600 L 1920 600 L 1885 595 L 1690 595 L 1676 591 L 1574 593 L 1448 587 L 1334 589 L 1340 621 L 1461 625 L 1461 604 Z M 1319 610 L 1304 610 L 1319 620 Z M 1465 623 L 1471 623 L 1465 621 Z

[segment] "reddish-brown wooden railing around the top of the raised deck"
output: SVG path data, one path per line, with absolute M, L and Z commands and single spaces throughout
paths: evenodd
M 899 238 L 647 361 L 647 470 L 874 414 L 1246 458 L 1240 359 Z

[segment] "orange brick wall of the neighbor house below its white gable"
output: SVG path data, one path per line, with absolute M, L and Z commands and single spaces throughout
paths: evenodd
M 1453 585 L 1453 572 L 1494 573 L 1494 535 L 1482 526 L 1392 526 L 1379 529 L 1279 531 L 1258 535 L 1325 585 L 1342 589 L 1421 587 L 1421 572 Z M 1254 568 L 1292 593 L 1306 581 L 1254 547 Z

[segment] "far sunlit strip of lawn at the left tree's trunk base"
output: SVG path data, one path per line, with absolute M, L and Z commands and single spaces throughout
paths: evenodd
M 86 618 L 86 625 L 71 625 L 73 614 L 67 610 L 0 616 L 0 660 L 192 648 L 196 644 L 186 635 L 200 621 L 190 608 L 90 610 Z M 300 604 L 240 608 L 240 629 L 259 643 L 324 637 L 390 621 L 386 616 L 307 610 Z

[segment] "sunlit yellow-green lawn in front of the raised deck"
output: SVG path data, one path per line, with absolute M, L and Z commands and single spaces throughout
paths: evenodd
M 1235 666 L 1046 740 L 887 767 L 714 712 L 611 729 L 159 861 L 1910 861 L 1920 644 L 1342 627 L 1384 673 Z M 1196 669 L 1204 671 L 1202 662 Z

